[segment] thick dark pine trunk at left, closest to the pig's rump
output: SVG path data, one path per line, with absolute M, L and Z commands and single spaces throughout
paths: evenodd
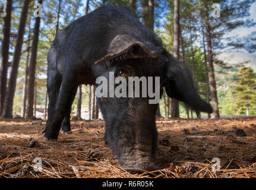
M 43 0 L 39 0 L 39 4 L 42 4 Z M 29 81 L 27 86 L 27 109 L 25 118 L 33 117 L 33 102 L 34 102 L 34 83 L 36 74 L 36 56 L 37 56 L 37 45 L 39 39 L 40 29 L 40 17 L 36 17 L 34 24 L 33 41 L 31 46 L 31 56 L 29 61 Z

